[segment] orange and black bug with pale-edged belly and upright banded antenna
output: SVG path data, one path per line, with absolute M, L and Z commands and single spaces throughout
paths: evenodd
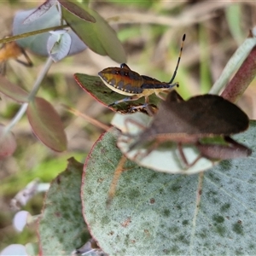
M 170 82 L 160 82 L 157 79 L 140 75 L 139 73 L 132 71 L 125 63 L 122 63 L 120 67 L 107 67 L 99 72 L 99 77 L 102 79 L 103 83 L 108 86 L 108 88 L 118 92 L 119 94 L 128 96 L 122 100 L 113 102 L 109 106 L 113 106 L 121 102 L 137 101 L 139 98 L 144 96 L 145 104 L 142 107 L 146 107 L 148 105 L 148 96 L 154 93 L 156 96 L 160 97 L 160 99 L 164 100 L 165 98 L 161 96 L 160 93 L 169 92 L 173 87 L 178 86 L 178 83 L 172 84 L 172 82 L 177 74 L 177 68 L 181 59 L 185 38 L 184 34 L 182 46 L 177 59 L 177 65 Z

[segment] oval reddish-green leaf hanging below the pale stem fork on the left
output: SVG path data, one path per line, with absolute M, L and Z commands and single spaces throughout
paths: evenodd
M 61 118 L 49 102 L 36 97 L 29 103 L 26 113 L 33 132 L 42 143 L 58 152 L 66 150 L 67 137 Z

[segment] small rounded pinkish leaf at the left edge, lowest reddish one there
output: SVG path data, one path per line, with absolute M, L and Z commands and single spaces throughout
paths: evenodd
M 12 132 L 5 133 L 4 125 L 0 125 L 0 160 L 13 154 L 16 146 L 14 134 Z

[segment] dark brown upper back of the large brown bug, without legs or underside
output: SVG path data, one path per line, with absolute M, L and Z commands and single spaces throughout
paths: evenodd
M 140 142 L 154 137 L 193 143 L 199 137 L 231 135 L 245 131 L 247 114 L 221 96 L 195 96 L 183 102 L 171 92 L 162 102 L 152 124 L 140 135 Z

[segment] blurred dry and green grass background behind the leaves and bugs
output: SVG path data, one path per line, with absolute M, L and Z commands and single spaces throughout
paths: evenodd
M 9 1 L 12 2 L 12 1 Z M 16 10 L 32 9 L 38 1 L 0 2 L 0 36 L 10 33 Z M 222 72 L 236 48 L 256 24 L 254 1 L 91 1 L 91 7 L 101 14 L 118 32 L 128 56 L 128 65 L 138 73 L 160 80 L 169 80 L 176 65 L 183 33 L 186 33 L 181 65 L 177 73 L 180 93 L 189 96 L 207 93 Z M 45 59 L 29 53 L 35 67 L 28 69 L 15 61 L 8 62 L 7 75 L 30 90 Z M 109 122 L 113 113 L 95 102 L 79 88 L 73 73 L 96 75 L 102 68 L 116 67 L 106 56 L 90 49 L 82 54 L 55 63 L 44 79 L 38 96 L 49 100 L 61 114 L 66 126 L 68 150 L 57 154 L 38 142 L 26 117 L 15 125 L 18 148 L 15 154 L 0 162 L 0 251 L 11 242 L 25 242 L 29 232 L 15 234 L 11 226 L 13 212 L 9 200 L 34 177 L 50 181 L 65 169 L 66 159 L 75 155 L 84 161 L 86 154 L 101 134 L 101 130 L 73 117 L 61 107 L 65 103 L 95 119 Z M 256 119 L 255 81 L 249 86 L 239 105 L 251 119 Z M 0 122 L 8 124 L 19 105 L 2 96 Z M 26 208 L 40 212 L 42 197 Z

